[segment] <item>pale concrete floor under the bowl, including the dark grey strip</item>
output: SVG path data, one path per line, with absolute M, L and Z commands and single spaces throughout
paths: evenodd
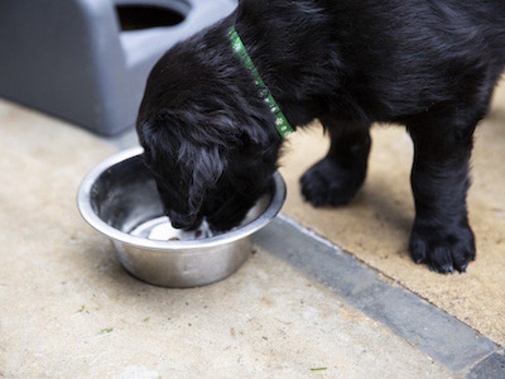
M 0 377 L 505 377 L 492 339 L 285 214 L 229 278 L 146 285 L 75 206 L 132 132 L 7 101 L 0 126 Z

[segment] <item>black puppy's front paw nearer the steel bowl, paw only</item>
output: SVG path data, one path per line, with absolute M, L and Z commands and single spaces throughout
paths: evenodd
M 301 193 L 315 207 L 344 205 L 355 196 L 365 175 L 366 166 L 343 168 L 324 158 L 300 178 Z

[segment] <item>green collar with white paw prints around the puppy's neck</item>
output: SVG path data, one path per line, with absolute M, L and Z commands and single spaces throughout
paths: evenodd
M 289 125 L 286 116 L 282 113 L 281 108 L 273 98 L 272 93 L 270 93 L 270 89 L 268 89 L 267 85 L 261 78 L 256 66 L 252 63 L 252 60 L 249 57 L 249 54 L 247 54 L 247 50 L 245 50 L 245 46 L 234 26 L 229 29 L 228 36 L 230 38 L 233 53 L 240 59 L 240 61 L 242 61 L 243 66 L 247 69 L 258 87 L 260 97 L 265 100 L 265 103 L 268 104 L 270 111 L 274 114 L 277 131 L 283 137 L 292 133 L 293 128 Z

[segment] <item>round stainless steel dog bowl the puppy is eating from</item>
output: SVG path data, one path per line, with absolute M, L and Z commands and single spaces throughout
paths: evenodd
M 171 229 L 163 215 L 155 180 L 141 154 L 141 148 L 134 148 L 98 164 L 83 179 L 77 204 L 82 217 L 112 240 L 126 270 L 146 282 L 195 287 L 229 276 L 251 252 L 249 235 L 272 221 L 284 203 L 284 180 L 276 172 L 268 194 L 241 225 L 222 234 L 183 240 L 188 235 Z M 155 235 L 160 228 L 165 236 Z M 170 241 L 170 233 L 176 235 L 172 240 L 180 240 Z

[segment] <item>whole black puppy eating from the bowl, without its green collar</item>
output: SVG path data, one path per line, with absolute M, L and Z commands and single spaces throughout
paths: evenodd
M 227 31 L 235 25 L 292 125 L 331 138 L 301 178 L 315 206 L 342 205 L 366 176 L 373 122 L 414 141 L 413 259 L 439 272 L 475 257 L 466 194 L 473 131 L 505 64 L 505 1 L 242 0 L 175 45 L 147 81 L 137 131 L 174 226 L 227 229 L 268 187 L 282 138 Z

